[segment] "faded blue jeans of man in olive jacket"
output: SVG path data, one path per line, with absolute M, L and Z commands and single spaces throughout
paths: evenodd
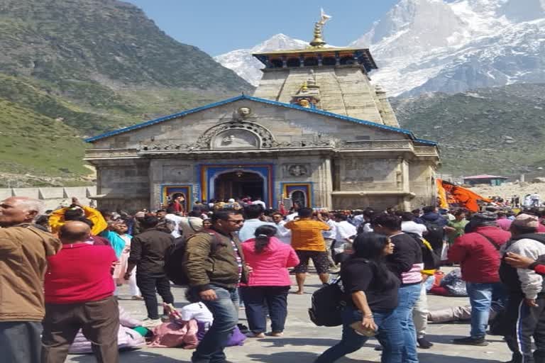
M 216 300 L 202 301 L 214 315 L 214 323 L 202 338 L 191 358 L 192 363 L 224 363 L 224 348 L 238 323 L 238 294 L 236 289 L 211 286 Z

